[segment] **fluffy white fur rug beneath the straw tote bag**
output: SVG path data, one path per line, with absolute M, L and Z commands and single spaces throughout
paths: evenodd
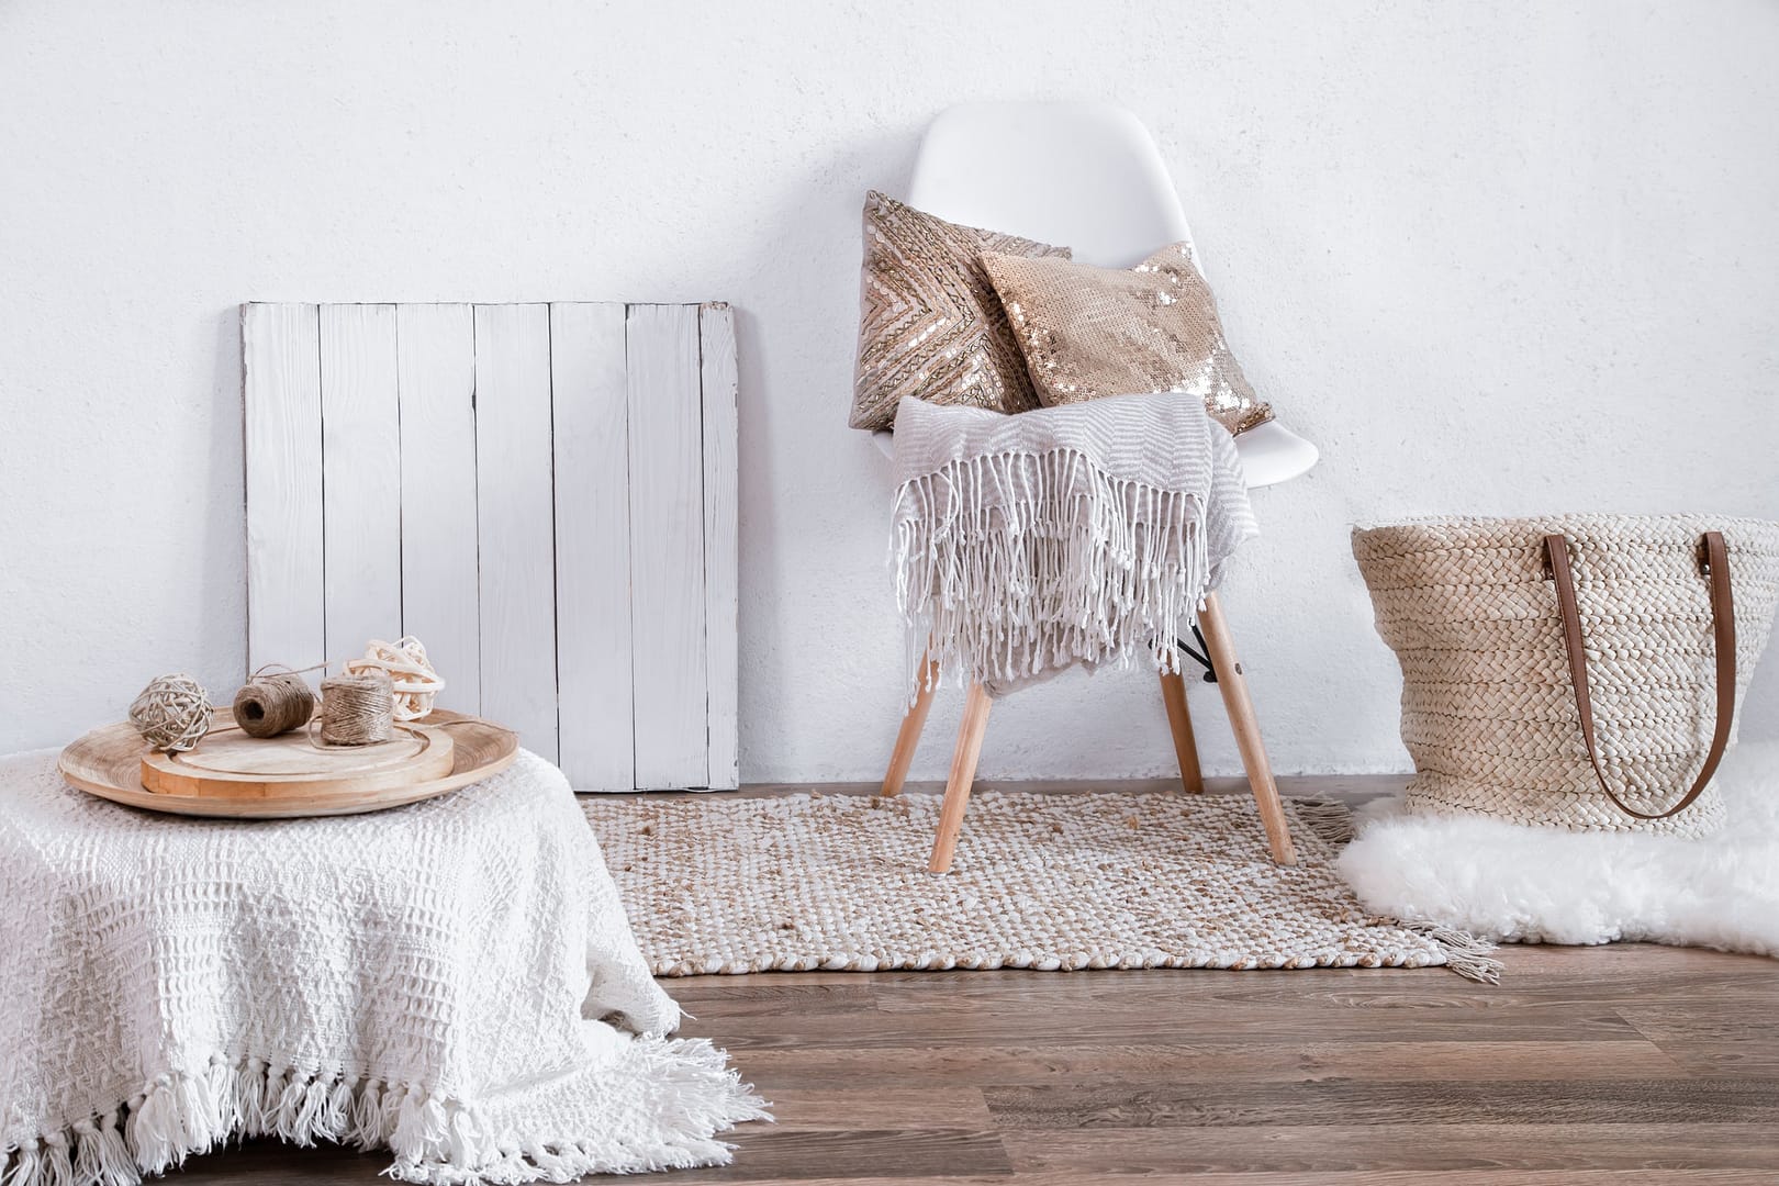
M 1708 839 L 1528 829 L 1477 816 L 1354 813 L 1338 869 L 1375 914 L 1505 942 L 1669 942 L 1779 957 L 1779 743 L 1717 773 L 1729 823 Z

